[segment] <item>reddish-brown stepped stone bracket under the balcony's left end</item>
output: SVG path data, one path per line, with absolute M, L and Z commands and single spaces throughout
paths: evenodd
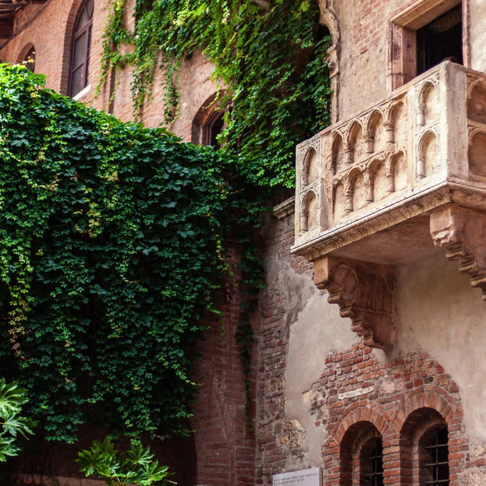
M 374 348 L 388 349 L 396 341 L 394 267 L 333 257 L 314 260 L 317 287 L 329 292 L 328 302 L 340 306 L 351 329 Z

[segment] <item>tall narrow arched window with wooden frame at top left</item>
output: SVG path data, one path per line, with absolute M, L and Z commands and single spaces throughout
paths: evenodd
M 74 22 L 71 69 L 69 69 L 69 96 L 71 97 L 76 96 L 88 83 L 91 31 L 93 26 L 93 1 L 83 1 L 76 16 L 76 22 Z

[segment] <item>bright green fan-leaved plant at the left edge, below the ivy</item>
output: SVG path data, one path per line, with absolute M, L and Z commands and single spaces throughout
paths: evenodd
M 6 383 L 0 378 L 0 462 L 7 456 L 17 455 L 19 446 L 15 444 L 17 433 L 26 437 L 33 433 L 32 422 L 20 414 L 22 405 L 28 401 L 27 390 L 19 388 L 17 383 Z

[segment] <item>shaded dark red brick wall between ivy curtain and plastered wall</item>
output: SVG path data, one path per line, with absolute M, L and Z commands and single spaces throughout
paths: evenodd
M 228 257 L 237 282 L 237 249 L 233 248 Z M 221 319 L 208 323 L 205 340 L 197 346 L 201 359 L 196 363 L 194 380 L 199 386 L 199 396 L 192 427 L 198 485 L 251 486 L 255 474 L 254 434 L 245 413 L 240 346 L 235 340 L 241 294 L 240 287 L 233 284 L 228 281 L 224 286 Z M 258 328 L 254 332 L 258 335 Z M 252 382 L 255 372 L 253 362 Z M 253 409 L 248 417 L 254 418 Z

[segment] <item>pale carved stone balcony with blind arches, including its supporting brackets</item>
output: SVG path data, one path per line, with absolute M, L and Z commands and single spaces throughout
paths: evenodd
M 486 74 L 452 62 L 296 151 L 292 251 L 369 346 L 396 339 L 394 269 L 446 249 L 486 293 Z

